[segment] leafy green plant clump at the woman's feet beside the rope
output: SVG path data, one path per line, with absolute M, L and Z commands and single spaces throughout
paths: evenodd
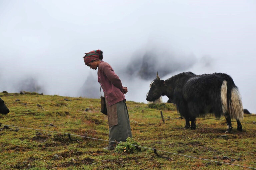
M 133 146 L 133 145 L 137 145 L 137 146 Z M 133 140 L 133 138 L 128 137 L 126 139 L 126 142 L 120 142 L 116 148 L 115 148 L 115 152 L 119 152 L 119 153 L 134 153 L 134 152 L 141 152 L 141 148 L 138 147 L 140 146 L 140 144 L 138 142 L 135 142 Z

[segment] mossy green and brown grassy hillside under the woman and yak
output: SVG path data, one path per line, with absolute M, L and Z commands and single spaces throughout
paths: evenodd
M 108 140 L 107 117 L 99 112 L 100 100 L 40 94 L 4 94 L 0 97 L 10 109 L 0 115 L 6 125 L 67 132 Z M 17 101 L 17 99 L 19 101 Z M 172 104 L 149 108 L 147 104 L 127 101 L 134 140 L 142 146 L 204 159 L 230 162 L 256 168 L 256 125 L 242 124 L 225 135 L 225 121 L 198 118 L 197 129 L 183 129 Z M 224 118 L 222 118 L 224 119 Z M 243 122 L 256 121 L 245 115 Z M 3 128 L 1 126 L 0 128 Z M 0 169 L 241 169 L 240 167 L 158 152 L 173 158 L 158 158 L 152 150 L 139 153 L 104 151 L 106 141 L 31 129 L 0 129 Z M 223 160 L 227 156 L 229 159 Z M 231 159 L 233 159 L 231 161 Z

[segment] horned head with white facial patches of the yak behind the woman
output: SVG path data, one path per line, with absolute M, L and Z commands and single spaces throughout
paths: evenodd
M 150 84 L 150 89 L 147 94 L 147 101 L 153 102 L 162 96 L 164 90 L 164 80 L 160 80 L 158 72 L 156 73 L 156 79 Z

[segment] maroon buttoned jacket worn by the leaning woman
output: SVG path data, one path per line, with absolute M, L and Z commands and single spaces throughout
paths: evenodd
M 122 82 L 107 62 L 98 65 L 98 82 L 110 106 L 125 100 Z

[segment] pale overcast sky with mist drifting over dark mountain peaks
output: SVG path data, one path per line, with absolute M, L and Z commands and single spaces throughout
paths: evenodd
M 223 72 L 256 113 L 255 21 L 254 0 L 0 0 L 0 91 L 99 98 L 82 57 L 101 49 L 127 100 L 146 102 L 156 71 Z

